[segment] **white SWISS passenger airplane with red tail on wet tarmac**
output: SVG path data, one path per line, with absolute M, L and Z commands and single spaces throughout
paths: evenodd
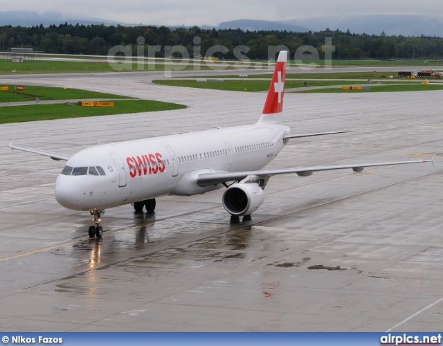
M 10 143 L 11 149 L 64 160 L 55 183 L 55 199 L 65 208 L 89 211 L 94 226 L 89 237 L 102 237 L 100 217 L 105 209 L 131 203 L 134 210 L 153 212 L 156 198 L 193 195 L 226 188 L 221 201 L 233 217 L 250 217 L 264 201 L 271 176 L 363 167 L 424 163 L 397 161 L 352 163 L 318 167 L 262 170 L 293 138 L 341 134 L 350 131 L 291 135 L 282 125 L 287 51 L 275 64 L 264 109 L 253 125 L 210 129 L 120 143 L 99 144 L 70 156 Z

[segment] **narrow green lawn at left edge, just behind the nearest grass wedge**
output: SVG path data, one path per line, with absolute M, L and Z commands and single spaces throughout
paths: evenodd
M 0 102 L 24 102 L 39 100 L 75 100 L 85 98 L 129 98 L 122 95 L 110 93 L 97 93 L 96 91 L 87 91 L 71 88 L 53 88 L 50 86 L 27 86 L 24 90 L 16 90 L 17 85 L 0 84 L 0 86 L 9 86 L 9 90 L 0 91 Z

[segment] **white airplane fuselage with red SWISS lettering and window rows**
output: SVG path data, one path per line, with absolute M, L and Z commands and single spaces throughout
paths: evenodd
M 197 176 L 260 170 L 282 150 L 287 134 L 289 127 L 257 122 L 89 147 L 66 162 L 76 173 L 58 176 L 55 198 L 69 209 L 102 210 L 168 194 L 217 190 L 223 185 L 200 187 Z M 100 167 L 105 175 L 91 174 Z

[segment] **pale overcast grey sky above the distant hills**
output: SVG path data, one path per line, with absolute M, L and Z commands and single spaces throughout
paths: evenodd
M 127 24 L 218 26 L 222 21 L 269 21 L 329 15 L 437 15 L 442 0 L 1 0 L 0 12 L 60 12 L 72 19 L 94 17 Z

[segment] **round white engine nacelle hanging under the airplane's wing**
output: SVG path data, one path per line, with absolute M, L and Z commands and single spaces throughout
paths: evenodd
M 231 215 L 251 215 L 263 203 L 264 193 L 256 183 L 230 185 L 223 194 L 223 206 Z

